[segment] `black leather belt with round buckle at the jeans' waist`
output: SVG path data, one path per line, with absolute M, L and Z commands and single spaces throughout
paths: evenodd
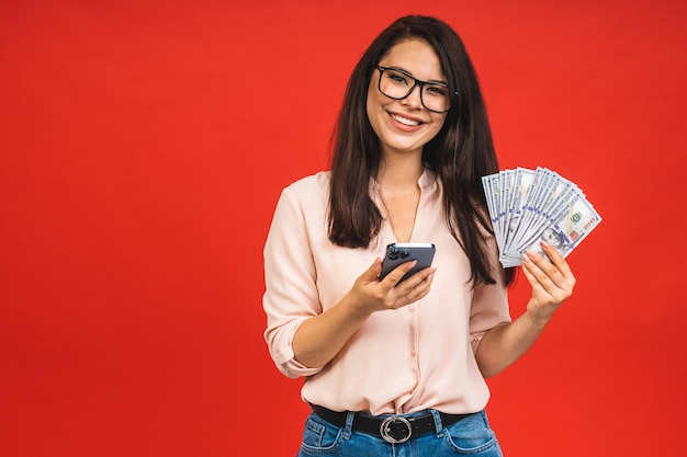
M 341 429 L 346 426 L 346 418 L 348 415 L 346 411 L 337 412 L 318 405 L 313 407 L 313 410 L 325 421 Z M 443 426 L 452 425 L 468 415 L 470 414 L 439 413 Z M 381 436 L 387 443 L 405 443 L 413 436 L 437 432 L 435 416 L 431 413 L 415 418 L 404 418 L 402 415 L 371 418 L 357 412 L 354 413 L 351 429 L 354 432 Z

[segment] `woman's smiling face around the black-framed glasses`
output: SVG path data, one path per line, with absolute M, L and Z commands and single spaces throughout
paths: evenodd
M 408 39 L 396 44 L 379 65 L 404 70 L 423 81 L 447 82 L 439 57 L 426 42 Z M 382 155 L 420 153 L 443 126 L 446 113 L 423 106 L 419 84 L 403 100 L 393 100 L 378 88 L 380 70 L 374 70 L 368 88 L 368 118 L 380 138 Z

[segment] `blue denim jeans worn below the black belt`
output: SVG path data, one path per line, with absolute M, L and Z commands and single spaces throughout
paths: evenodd
M 348 413 L 345 427 L 338 427 L 312 412 L 303 432 L 297 457 L 503 457 L 494 432 L 484 411 L 443 427 L 439 414 L 435 416 L 436 432 L 413 436 L 401 444 L 386 443 L 381 436 L 351 431 L 352 414 Z M 402 414 L 404 418 L 427 414 L 427 411 Z

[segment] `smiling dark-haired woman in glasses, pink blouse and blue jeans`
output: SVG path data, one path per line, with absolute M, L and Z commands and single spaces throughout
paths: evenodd
M 394 22 L 350 78 L 331 170 L 283 191 L 264 248 L 264 336 L 313 405 L 300 456 L 502 455 L 484 378 L 532 345 L 575 279 L 545 242 L 551 262 L 526 253 L 532 296 L 511 321 L 481 184 L 497 170 L 459 36 Z M 432 266 L 380 281 L 386 245 L 406 241 L 435 243 Z

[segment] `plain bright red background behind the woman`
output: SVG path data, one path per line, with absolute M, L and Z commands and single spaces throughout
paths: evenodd
M 573 298 L 489 381 L 506 455 L 682 455 L 687 3 L 138 3 L 0 4 L 0 455 L 295 455 L 262 244 L 407 13 L 464 38 L 502 167 L 560 172 L 605 219 Z

